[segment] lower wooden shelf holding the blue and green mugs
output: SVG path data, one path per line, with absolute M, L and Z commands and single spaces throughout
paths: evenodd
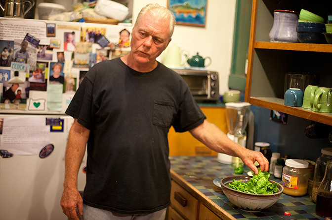
M 249 102 L 253 105 L 332 126 L 332 113 L 318 113 L 311 109 L 287 106 L 284 105 L 284 99 L 282 98 L 250 96 Z

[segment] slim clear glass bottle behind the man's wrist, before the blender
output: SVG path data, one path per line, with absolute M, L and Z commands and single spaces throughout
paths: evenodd
M 246 147 L 247 143 L 247 132 L 245 129 L 243 129 L 243 115 L 239 115 L 239 122 L 237 125 L 237 128 L 234 131 L 234 142 L 238 143 L 242 147 Z M 233 167 L 243 167 L 244 163 L 241 158 L 239 157 L 233 157 L 232 158 L 232 166 Z

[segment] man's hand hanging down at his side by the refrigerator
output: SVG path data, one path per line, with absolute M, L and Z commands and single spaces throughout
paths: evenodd
M 63 213 L 70 220 L 79 220 L 78 214 L 80 214 L 81 216 L 83 215 L 83 199 L 77 189 L 64 189 L 60 204 Z M 76 207 L 79 213 L 76 212 Z

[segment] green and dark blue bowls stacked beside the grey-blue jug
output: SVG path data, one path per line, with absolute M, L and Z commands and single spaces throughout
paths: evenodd
M 326 32 L 325 20 L 310 11 L 301 9 L 296 32 L 301 43 L 326 43 L 323 34 Z

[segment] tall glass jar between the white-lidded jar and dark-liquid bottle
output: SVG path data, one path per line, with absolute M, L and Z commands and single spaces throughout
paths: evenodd
M 314 171 L 314 182 L 312 185 L 312 201 L 316 203 L 319 185 L 325 174 L 325 167 L 328 160 L 332 160 L 332 148 L 323 148 L 321 157 L 316 160 Z

